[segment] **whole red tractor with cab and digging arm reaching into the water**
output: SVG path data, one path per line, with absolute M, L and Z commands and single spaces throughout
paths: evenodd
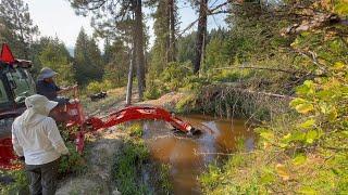
M 29 74 L 30 67 L 32 62 L 15 60 L 8 44 L 2 44 L 0 54 L 0 169 L 16 168 L 16 165 L 12 164 L 16 156 L 12 148 L 11 127 L 14 118 L 25 110 L 25 98 L 36 93 L 35 82 Z M 167 110 L 153 106 L 127 106 L 102 119 L 86 117 L 76 94 L 75 91 L 75 99 L 60 108 L 62 113 L 55 116 L 65 116 L 63 118 L 67 128 L 77 127 L 78 131 L 73 135 L 78 152 L 84 150 L 85 133 L 130 120 L 160 119 L 170 122 L 178 131 L 188 134 L 199 132 Z

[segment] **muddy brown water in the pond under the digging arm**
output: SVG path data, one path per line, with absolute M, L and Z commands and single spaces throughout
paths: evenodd
M 174 194 L 201 194 L 198 176 L 210 162 L 221 160 L 221 153 L 233 153 L 237 147 L 250 151 L 254 134 L 244 120 L 216 119 L 204 115 L 181 118 L 203 131 L 199 136 L 175 135 L 164 121 L 145 121 L 144 139 L 153 160 L 170 165 Z

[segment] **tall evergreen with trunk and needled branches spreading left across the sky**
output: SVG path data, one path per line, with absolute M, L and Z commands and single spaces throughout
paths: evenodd
M 77 14 L 92 13 L 92 26 L 98 35 L 125 36 L 134 41 L 139 99 L 145 89 L 145 36 L 141 0 L 70 0 Z M 132 39 L 129 39 L 129 35 Z

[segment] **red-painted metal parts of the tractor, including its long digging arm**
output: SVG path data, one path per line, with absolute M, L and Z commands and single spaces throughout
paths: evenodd
M 26 65 L 25 61 L 17 61 L 13 57 L 11 50 L 7 44 L 3 44 L 2 47 L 0 61 L 10 65 L 13 65 L 15 62 L 21 62 Z M 125 121 L 158 119 L 167 121 L 174 127 L 174 129 L 179 130 L 184 133 L 196 134 L 197 132 L 199 132 L 195 130 L 195 128 L 190 123 L 177 118 L 164 108 L 156 106 L 128 106 L 121 110 L 111 113 L 103 118 L 98 118 L 95 116 L 87 118 L 78 100 L 76 88 L 74 91 L 74 100 L 70 101 L 70 103 L 66 104 L 66 107 L 64 107 L 62 112 L 64 112 L 64 114 L 60 113 L 61 116 L 69 115 L 66 127 L 78 128 L 78 131 L 76 134 L 74 134 L 74 136 L 76 151 L 78 151 L 79 153 L 84 151 L 86 133 L 107 129 Z M 14 159 L 16 159 L 16 156 L 13 152 L 11 138 L 0 139 L 0 169 L 20 168 L 18 164 L 12 164 L 12 160 Z

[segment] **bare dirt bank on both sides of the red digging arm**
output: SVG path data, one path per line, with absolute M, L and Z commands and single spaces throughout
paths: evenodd
M 111 109 L 122 106 L 124 88 L 108 91 L 108 98 L 98 102 L 83 99 L 88 115 L 102 116 Z M 120 153 L 124 133 L 116 127 L 98 132 L 86 145 L 86 170 L 77 176 L 70 176 L 60 182 L 57 194 L 120 194 L 112 186 L 112 166 Z

